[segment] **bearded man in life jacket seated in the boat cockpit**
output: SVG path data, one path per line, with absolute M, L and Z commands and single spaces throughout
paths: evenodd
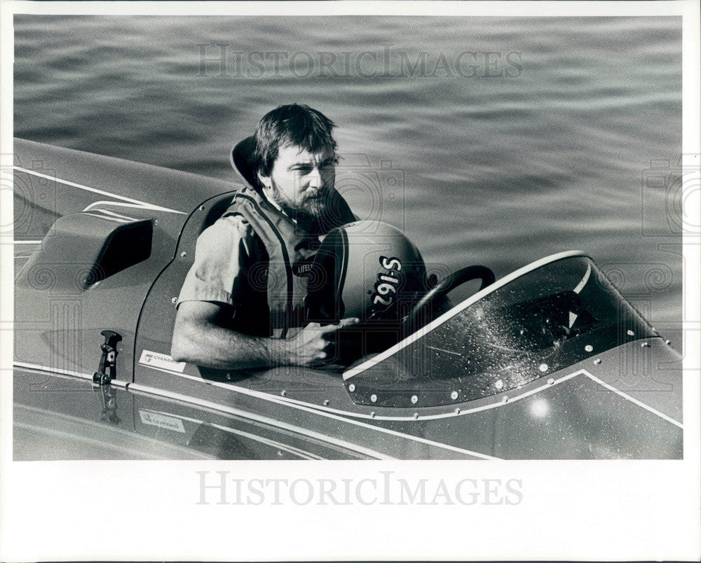
M 320 235 L 355 221 L 336 192 L 335 124 L 280 106 L 233 150 L 249 184 L 200 235 L 178 298 L 171 355 L 219 369 L 315 366 L 339 324 L 305 326 L 304 297 Z

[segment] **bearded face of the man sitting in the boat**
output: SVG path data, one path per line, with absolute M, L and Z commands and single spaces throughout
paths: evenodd
M 336 182 L 336 156 L 327 146 L 310 153 L 299 146 L 281 146 L 270 176 L 258 177 L 266 197 L 283 211 L 308 223 L 327 211 Z

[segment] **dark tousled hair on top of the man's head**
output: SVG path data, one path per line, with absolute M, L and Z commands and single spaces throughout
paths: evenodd
M 336 124 L 327 116 L 304 104 L 289 104 L 269 111 L 261 118 L 255 133 L 258 171 L 270 176 L 281 146 L 300 146 L 310 153 L 330 146 L 335 153 L 334 127 Z

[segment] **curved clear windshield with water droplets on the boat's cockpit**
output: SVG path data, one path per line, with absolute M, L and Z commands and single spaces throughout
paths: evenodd
M 346 387 L 360 404 L 449 405 L 514 389 L 653 335 L 594 262 L 574 256 L 491 291 L 355 373 Z

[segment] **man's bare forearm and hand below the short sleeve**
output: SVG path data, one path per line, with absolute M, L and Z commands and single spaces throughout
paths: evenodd
M 331 354 L 334 333 L 358 321 L 343 319 L 339 324 L 327 326 L 311 323 L 294 338 L 278 340 L 224 328 L 224 314 L 224 307 L 216 303 L 181 303 L 170 349 L 173 359 L 218 369 L 313 366 Z

